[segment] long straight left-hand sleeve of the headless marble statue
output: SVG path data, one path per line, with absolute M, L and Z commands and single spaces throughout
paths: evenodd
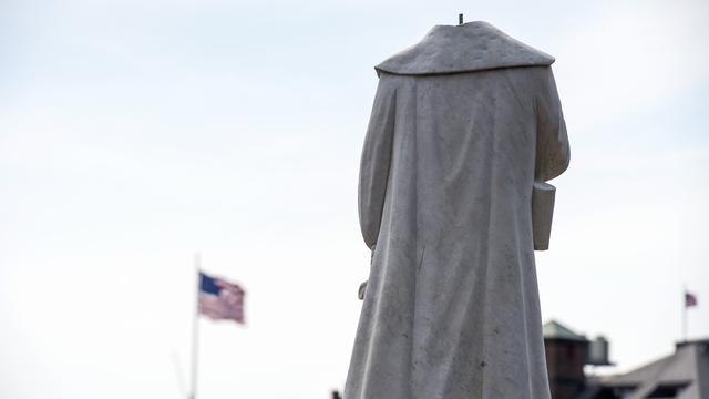
M 364 243 L 371 249 L 379 236 L 391 165 L 395 115 L 395 90 L 392 83 L 390 76 L 382 74 L 359 171 L 359 222 Z

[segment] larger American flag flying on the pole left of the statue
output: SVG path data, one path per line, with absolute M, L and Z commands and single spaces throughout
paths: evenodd
M 245 294 L 236 284 L 199 273 L 199 314 L 210 319 L 244 324 Z

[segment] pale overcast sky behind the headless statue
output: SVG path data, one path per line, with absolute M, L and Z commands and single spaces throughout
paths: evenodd
M 248 321 L 201 321 L 199 399 L 340 389 L 372 66 L 459 12 L 557 59 L 544 319 L 621 371 L 672 351 L 686 285 L 709 336 L 706 1 L 2 0 L 0 396 L 181 398 L 195 252 Z

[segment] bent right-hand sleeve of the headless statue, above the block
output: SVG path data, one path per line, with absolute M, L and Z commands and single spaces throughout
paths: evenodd
M 566 123 L 551 68 L 542 70 L 540 93 L 535 99 L 537 117 L 536 181 L 549 181 L 566 171 L 569 161 Z

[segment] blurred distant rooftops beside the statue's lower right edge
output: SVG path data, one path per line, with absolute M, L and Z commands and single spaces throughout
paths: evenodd
M 621 375 L 589 377 L 585 365 L 609 365 L 608 342 L 589 341 L 558 321 L 544 325 L 553 399 L 709 399 L 709 339 L 678 342 L 675 354 Z

